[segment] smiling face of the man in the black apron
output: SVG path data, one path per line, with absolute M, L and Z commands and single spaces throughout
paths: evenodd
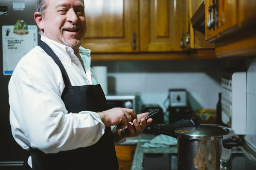
M 83 0 L 47 0 L 43 18 L 45 37 L 70 46 L 80 46 L 86 33 Z

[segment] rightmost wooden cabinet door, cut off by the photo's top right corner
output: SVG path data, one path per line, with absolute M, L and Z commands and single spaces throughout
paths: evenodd
M 256 0 L 239 1 L 239 25 L 244 26 L 255 23 L 256 20 Z

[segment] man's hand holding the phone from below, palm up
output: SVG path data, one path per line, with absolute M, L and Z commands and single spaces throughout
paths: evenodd
M 145 114 L 147 114 L 148 112 L 146 113 L 141 113 L 141 114 L 138 114 L 137 117 L 140 118 L 140 117 L 143 117 Z M 124 130 L 124 129 L 117 129 L 116 127 L 113 129 L 112 133 L 113 133 L 113 136 L 114 136 L 114 140 L 119 140 L 121 138 L 125 138 L 125 137 L 133 137 L 133 136 L 138 136 L 140 133 L 143 133 L 145 127 L 149 124 L 151 124 L 151 122 L 153 121 L 152 118 L 149 118 L 146 122 L 146 120 L 143 118 L 141 119 L 141 122 L 138 123 L 137 119 L 134 119 L 133 121 L 133 124 L 134 124 L 134 127 L 132 127 L 132 125 L 130 123 L 128 123 L 127 125 L 127 130 Z

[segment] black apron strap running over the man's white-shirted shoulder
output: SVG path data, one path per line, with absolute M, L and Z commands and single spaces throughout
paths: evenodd
M 52 57 L 52 59 L 55 61 L 55 63 L 59 66 L 59 68 L 61 69 L 61 74 L 64 80 L 64 84 L 65 86 L 69 87 L 71 86 L 71 82 L 70 79 L 67 75 L 67 71 L 65 70 L 63 64 L 61 63 L 61 60 L 58 58 L 58 56 L 54 53 L 54 51 L 52 51 L 52 48 L 49 47 L 49 45 L 47 45 L 47 43 L 41 41 L 40 45 L 39 45 L 50 57 Z

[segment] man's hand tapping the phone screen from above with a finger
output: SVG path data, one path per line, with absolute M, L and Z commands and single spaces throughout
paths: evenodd
M 128 108 L 112 108 L 98 114 L 106 127 L 117 125 L 117 130 L 125 128 L 131 119 L 137 119 L 134 110 Z

